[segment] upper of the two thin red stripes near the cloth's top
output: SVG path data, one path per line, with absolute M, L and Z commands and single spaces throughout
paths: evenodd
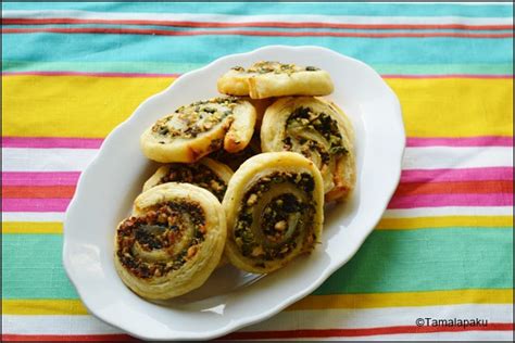
M 282 28 L 343 28 L 343 29 L 469 29 L 507 30 L 513 25 L 465 25 L 465 24 L 341 24 L 341 23 L 287 23 L 287 22 L 190 22 L 190 21 L 146 21 L 146 20 L 81 20 L 81 18 L 2 18 L 3 25 L 47 25 L 47 24 L 120 24 L 180 27 L 282 27 Z

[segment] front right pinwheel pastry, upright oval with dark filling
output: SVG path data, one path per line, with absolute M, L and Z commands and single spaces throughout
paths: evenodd
M 229 181 L 225 255 L 236 267 L 274 271 L 319 242 L 324 187 L 313 162 L 293 152 L 262 153 Z

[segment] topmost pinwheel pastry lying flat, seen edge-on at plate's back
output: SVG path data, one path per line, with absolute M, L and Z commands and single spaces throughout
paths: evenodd
M 314 66 L 261 61 L 246 69 L 235 66 L 217 81 L 218 91 L 263 99 L 285 96 L 327 96 L 332 92 L 329 73 Z

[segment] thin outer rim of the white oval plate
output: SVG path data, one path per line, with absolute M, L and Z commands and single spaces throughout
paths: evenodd
M 95 169 L 96 166 L 98 165 L 99 161 L 102 160 L 101 156 L 104 155 L 105 151 L 108 150 L 108 149 L 104 149 L 104 147 L 109 147 L 110 141 L 112 140 L 112 138 L 115 135 L 117 135 L 116 134 L 117 131 L 121 131 L 121 130 L 123 130 L 123 128 L 125 126 L 130 125 L 130 122 L 135 118 L 136 113 L 140 112 L 142 107 L 148 106 L 148 103 L 150 103 L 152 101 L 155 101 L 155 99 L 158 99 L 162 96 L 165 96 L 171 90 L 178 87 L 177 85 L 180 86 L 180 84 L 183 81 L 185 81 L 190 75 L 194 75 L 197 73 L 202 73 L 205 69 L 209 69 L 210 67 L 212 67 L 214 64 L 217 64 L 218 62 L 221 62 L 223 60 L 226 60 L 226 59 L 248 58 L 248 56 L 251 56 L 252 54 L 256 54 L 259 52 L 263 52 L 263 51 L 266 51 L 266 50 L 277 50 L 277 49 L 279 49 L 279 50 L 280 49 L 318 50 L 318 51 L 322 50 L 322 51 L 324 51 L 324 53 L 329 53 L 329 54 L 335 55 L 336 58 L 346 59 L 346 60 L 352 61 L 353 63 L 357 63 L 362 67 L 368 69 L 368 72 L 372 72 L 374 74 L 374 76 L 379 79 L 379 81 L 382 84 L 381 86 L 387 91 L 389 98 L 393 101 L 392 105 L 395 107 L 395 113 L 397 113 L 398 118 L 399 118 L 397 124 L 400 125 L 399 129 L 402 132 L 402 135 L 399 137 L 400 138 L 400 141 L 399 141 L 400 147 L 398 147 L 398 148 L 400 148 L 400 151 L 398 152 L 399 153 L 398 154 L 399 161 L 395 161 L 395 164 L 394 164 L 395 175 L 392 178 L 392 180 L 394 180 L 394 181 L 392 182 L 392 185 L 390 187 L 390 191 L 388 193 L 388 196 L 386 198 L 388 201 L 385 202 L 385 204 L 382 206 L 382 211 L 378 214 L 377 219 L 374 220 L 375 224 L 373 226 L 370 226 L 370 228 L 368 228 L 367 230 L 364 230 L 364 232 L 366 231 L 365 234 L 363 234 L 360 238 L 359 244 L 354 245 L 354 247 L 350 251 L 350 254 L 348 254 L 347 258 L 342 258 L 341 261 L 338 261 L 338 263 L 336 263 L 334 266 L 329 265 L 327 268 L 322 270 L 318 278 L 314 282 L 309 284 L 309 287 L 305 287 L 302 292 L 297 292 L 294 294 L 291 294 L 291 295 L 282 298 L 280 303 L 276 304 L 275 306 L 272 306 L 266 312 L 261 312 L 258 315 L 253 315 L 253 316 L 247 316 L 247 317 L 243 317 L 242 319 L 237 320 L 237 321 L 234 320 L 234 321 L 227 323 L 225 327 L 223 327 L 221 329 L 217 329 L 217 330 L 200 331 L 200 332 L 188 331 L 188 335 L 186 335 L 186 331 L 180 331 L 180 333 L 178 333 L 175 336 L 169 336 L 169 335 L 167 335 L 167 336 L 163 336 L 163 335 L 142 335 L 142 334 L 139 334 L 138 332 L 133 331 L 131 328 L 126 327 L 124 325 L 121 325 L 116 320 L 112 320 L 111 318 L 95 312 L 93 308 L 90 306 L 90 304 L 88 302 L 88 296 L 85 294 L 87 288 L 81 288 L 74 280 L 74 275 L 73 275 L 74 271 L 73 271 L 73 268 L 70 265 L 70 261 L 67 259 L 68 258 L 67 257 L 68 256 L 68 247 L 67 247 L 67 245 L 68 245 L 67 241 L 68 240 L 66 238 L 68 236 L 67 227 L 70 225 L 68 224 L 70 213 L 72 213 L 74 211 L 77 211 L 76 209 L 76 207 L 78 206 L 77 203 L 79 202 L 79 199 L 81 198 L 81 193 L 83 193 L 81 190 L 85 188 L 85 186 L 84 186 L 85 179 L 89 178 L 88 175 L 91 173 L 90 170 Z M 171 85 L 168 85 L 165 89 L 163 89 L 162 91 L 160 91 L 155 94 L 152 94 L 151 97 L 143 100 L 125 120 L 123 120 L 121 124 L 118 124 L 105 137 L 105 139 L 103 140 L 97 155 L 92 158 L 92 161 L 88 164 L 88 166 L 80 173 L 75 194 L 74 194 L 72 201 L 70 202 L 68 207 L 67 207 L 67 209 L 65 212 L 65 215 L 64 215 L 63 233 L 62 233 L 62 237 L 63 237 L 62 264 L 64 266 L 65 274 L 66 274 L 68 280 L 71 281 L 71 283 L 73 284 L 73 287 L 75 288 L 75 290 L 77 291 L 77 294 L 79 296 L 80 302 L 88 309 L 88 313 L 90 315 L 92 315 L 96 318 L 99 318 L 100 320 L 106 322 L 108 325 L 113 326 L 117 329 L 121 329 L 121 330 L 125 331 L 127 334 L 130 334 L 130 335 L 136 336 L 138 339 L 147 339 L 147 340 L 150 339 L 150 340 L 156 340 L 156 341 L 165 341 L 165 340 L 209 340 L 209 339 L 219 338 L 224 334 L 237 331 L 237 330 L 239 330 L 243 327 L 247 327 L 247 326 L 256 323 L 259 321 L 265 320 L 267 318 L 271 318 L 272 316 L 278 314 L 279 312 L 281 312 L 282 309 L 285 309 L 289 305 L 293 304 L 294 302 L 305 297 L 306 295 L 312 293 L 314 290 L 316 290 L 336 270 L 338 270 L 343 265 L 346 265 L 356 254 L 356 252 L 363 245 L 366 238 L 373 232 L 375 225 L 380 220 L 380 217 L 382 216 L 385 209 L 387 208 L 389 200 L 392 198 L 392 195 L 393 195 L 393 193 L 397 189 L 397 186 L 398 186 L 400 177 L 401 177 L 402 161 L 403 161 L 403 156 L 404 156 L 404 152 L 405 152 L 405 145 L 406 145 L 406 136 L 405 136 L 405 128 L 404 128 L 404 123 L 403 123 L 403 117 L 402 117 L 402 109 L 401 109 L 401 104 L 400 104 L 400 101 L 399 101 L 397 94 L 394 93 L 394 91 L 390 88 L 390 86 L 382 79 L 382 77 L 373 67 L 370 67 L 369 65 L 367 65 L 366 63 L 364 63 L 360 60 L 356 60 L 354 58 L 344 55 L 342 53 L 339 53 L 337 51 L 334 51 L 334 50 L 325 48 L 325 47 L 319 47 L 319 46 L 286 46 L 286 45 L 263 46 L 263 47 L 260 47 L 260 48 L 251 50 L 251 51 L 235 53 L 235 54 L 227 54 L 227 55 L 221 56 L 218 59 L 213 60 L 212 62 L 208 63 L 206 65 L 204 65 L 200 68 L 197 68 L 194 71 L 190 71 L 188 73 L 183 74 L 175 81 L 171 82 Z

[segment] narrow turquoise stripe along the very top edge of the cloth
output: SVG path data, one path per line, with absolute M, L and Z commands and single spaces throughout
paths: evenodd
M 394 4 L 394 3 L 276 3 L 276 2 L 2 2 L 2 10 L 83 10 L 100 12 L 168 12 L 218 14 L 329 14 L 372 16 L 510 17 L 513 5 Z

